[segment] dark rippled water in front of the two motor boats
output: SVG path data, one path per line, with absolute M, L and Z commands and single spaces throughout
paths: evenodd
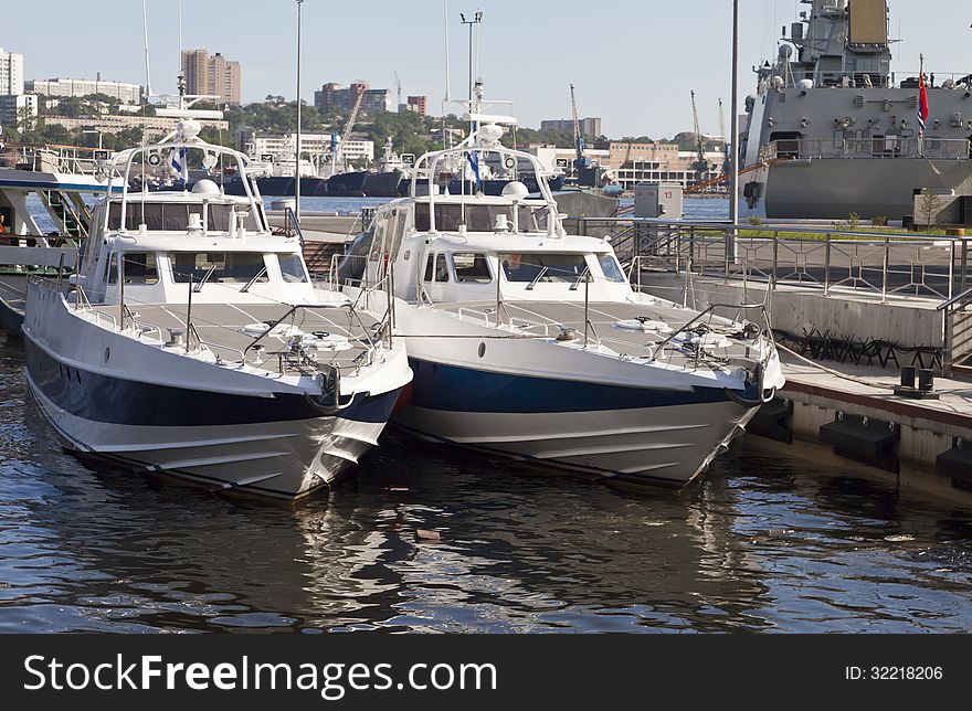
M 972 630 L 970 512 L 839 469 L 742 447 L 677 496 L 390 438 L 295 511 L 78 463 L 22 365 L 0 336 L 0 632 Z

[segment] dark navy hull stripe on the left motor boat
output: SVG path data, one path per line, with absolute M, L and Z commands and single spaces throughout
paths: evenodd
M 231 395 L 112 378 L 57 362 L 30 339 L 27 369 L 36 388 L 61 410 L 88 420 L 146 427 L 202 427 L 295 422 L 324 416 L 306 397 Z M 361 393 L 338 416 L 384 423 L 399 391 L 370 396 Z

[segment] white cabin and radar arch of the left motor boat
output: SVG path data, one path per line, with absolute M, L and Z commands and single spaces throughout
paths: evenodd
M 190 183 L 170 168 L 170 156 L 188 166 L 197 151 L 201 165 L 214 168 L 218 150 L 243 174 L 245 157 L 191 139 L 119 155 L 113 180 L 123 190 L 95 206 L 75 279 L 92 304 L 314 299 L 299 241 L 272 233 L 251 181 L 235 197 L 214 180 Z

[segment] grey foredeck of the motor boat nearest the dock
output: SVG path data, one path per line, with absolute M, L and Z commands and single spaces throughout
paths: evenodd
M 480 322 L 496 323 L 496 301 L 437 304 L 433 308 Z M 501 311 L 503 321 L 511 323 L 526 336 L 557 337 L 563 331 L 573 331 L 575 338 L 580 339 L 584 336 L 582 301 L 504 301 Z M 590 326 L 587 332 L 593 342 L 600 342 L 628 358 L 652 357 L 657 346 L 670 338 L 672 341 L 665 346 L 665 359 L 682 364 L 695 360 L 695 353 L 685 348 L 687 343 L 683 337 L 687 333 L 677 332 L 697 315 L 698 311 L 662 303 L 591 303 L 588 307 Z M 722 358 L 753 358 L 756 353 L 750 352 L 753 339 L 741 332 L 744 318 L 762 326 L 759 312 L 752 310 L 721 309 L 718 315 L 707 314 L 702 317 L 700 325 L 707 326 L 712 333 L 726 336 L 719 346 L 715 346 L 715 341 L 707 342 L 706 350 Z M 644 321 L 641 327 L 640 319 Z M 668 328 L 656 328 L 663 323 Z

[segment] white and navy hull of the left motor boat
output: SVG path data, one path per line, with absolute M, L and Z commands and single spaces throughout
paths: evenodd
M 34 399 L 73 448 L 271 497 L 305 496 L 356 464 L 377 444 L 410 378 L 404 350 L 387 352 L 357 376 L 349 406 L 325 413 L 294 378 L 148 344 L 33 284 L 24 341 Z

